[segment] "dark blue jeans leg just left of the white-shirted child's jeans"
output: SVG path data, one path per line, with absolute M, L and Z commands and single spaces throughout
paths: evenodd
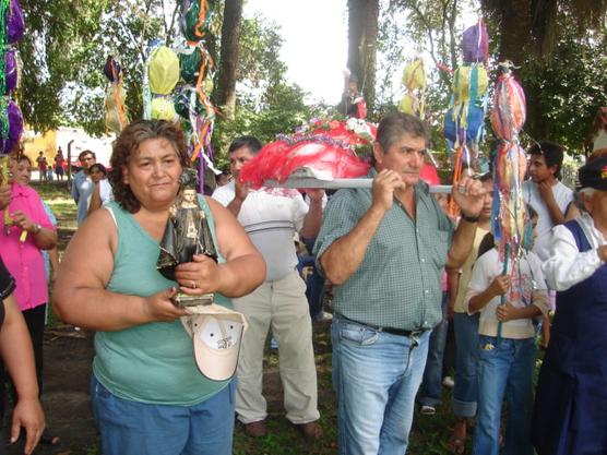
M 478 362 L 478 313 L 453 315 L 455 333 L 455 386 L 453 414 L 457 417 L 476 415 L 476 366 Z

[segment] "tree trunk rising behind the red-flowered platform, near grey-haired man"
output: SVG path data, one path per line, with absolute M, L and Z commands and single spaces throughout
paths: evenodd
M 376 100 L 379 0 L 348 0 L 348 62 L 372 111 Z

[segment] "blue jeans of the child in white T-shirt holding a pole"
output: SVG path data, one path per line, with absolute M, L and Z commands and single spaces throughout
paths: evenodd
M 478 414 L 473 455 L 498 455 L 501 406 L 505 396 L 508 417 L 502 455 L 533 455 L 531 417 L 535 338 L 478 337 Z M 490 344 L 493 349 L 485 349 Z

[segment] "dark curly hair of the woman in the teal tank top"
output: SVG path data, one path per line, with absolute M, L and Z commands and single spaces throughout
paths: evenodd
M 190 167 L 186 136 L 177 123 L 166 120 L 136 120 L 129 124 L 114 143 L 108 179 L 114 199 L 130 213 L 139 212 L 141 204 L 131 188 L 124 183 L 122 171 L 129 166 L 141 143 L 151 139 L 166 139 L 175 147 L 181 167 Z

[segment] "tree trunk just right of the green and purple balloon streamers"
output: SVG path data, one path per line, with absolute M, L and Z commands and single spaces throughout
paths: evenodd
M 236 107 L 236 69 L 238 68 L 241 20 L 242 0 L 226 0 L 215 103 L 227 119 L 234 119 Z

